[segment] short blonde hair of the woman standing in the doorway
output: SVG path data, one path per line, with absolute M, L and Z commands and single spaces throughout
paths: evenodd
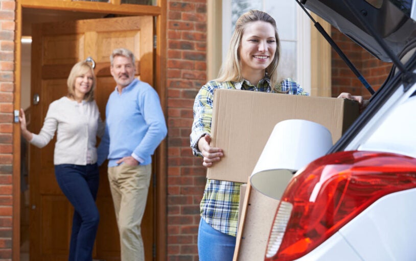
M 72 67 L 70 75 L 68 76 L 68 80 L 66 81 L 66 85 L 68 86 L 68 97 L 75 99 L 75 80 L 78 76 L 84 75 L 88 71 L 93 74 L 93 86 L 91 86 L 91 90 L 85 94 L 84 100 L 94 100 L 94 91 L 96 89 L 97 78 L 94 74 L 93 67 L 91 67 L 91 65 L 89 65 L 87 62 L 78 62 Z

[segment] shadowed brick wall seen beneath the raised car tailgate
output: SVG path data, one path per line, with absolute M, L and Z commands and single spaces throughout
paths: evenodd
M 332 28 L 331 34 L 339 48 L 364 76 L 364 79 L 374 90 L 377 90 L 386 79 L 391 63 L 381 62 L 336 28 Z M 369 98 L 371 95 L 368 90 L 365 89 L 357 76 L 333 49 L 331 55 L 332 96 L 336 97 L 341 92 L 349 92 L 353 95 L 362 95 L 364 98 Z

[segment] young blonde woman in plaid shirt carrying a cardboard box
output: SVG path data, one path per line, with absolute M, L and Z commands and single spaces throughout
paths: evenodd
M 221 148 L 210 146 L 214 89 L 309 95 L 293 80 L 279 79 L 279 59 L 280 40 L 274 19 L 258 10 L 241 15 L 236 22 L 218 79 L 202 86 L 195 98 L 191 148 L 194 155 L 203 158 L 203 166 L 211 167 L 224 156 Z M 339 97 L 362 102 L 361 96 L 348 93 L 342 93 Z M 270 112 L 265 109 L 264 113 Z M 244 132 L 244 129 L 241 131 Z M 206 180 L 200 203 L 200 261 L 233 260 L 241 185 L 239 182 Z

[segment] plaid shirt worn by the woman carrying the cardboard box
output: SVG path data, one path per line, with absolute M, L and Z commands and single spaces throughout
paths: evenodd
M 196 156 L 201 156 L 198 141 L 205 134 L 211 133 L 214 90 L 217 88 L 248 91 L 271 92 L 270 82 L 266 76 L 257 86 L 248 81 L 216 82 L 211 81 L 200 89 L 194 102 L 194 122 L 190 136 L 191 148 Z M 285 79 L 278 89 L 292 95 L 309 95 L 292 79 Z M 230 236 L 237 236 L 238 208 L 240 187 L 243 183 L 207 179 L 200 203 L 200 214 L 207 224 Z

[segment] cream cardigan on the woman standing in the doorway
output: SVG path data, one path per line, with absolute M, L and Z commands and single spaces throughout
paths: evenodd
M 83 108 L 80 108 L 82 106 Z M 104 124 L 95 101 L 83 101 L 62 97 L 51 103 L 39 134 L 33 134 L 30 141 L 36 147 L 46 146 L 58 129 L 54 164 L 87 164 L 97 162 L 97 136 L 104 134 Z

